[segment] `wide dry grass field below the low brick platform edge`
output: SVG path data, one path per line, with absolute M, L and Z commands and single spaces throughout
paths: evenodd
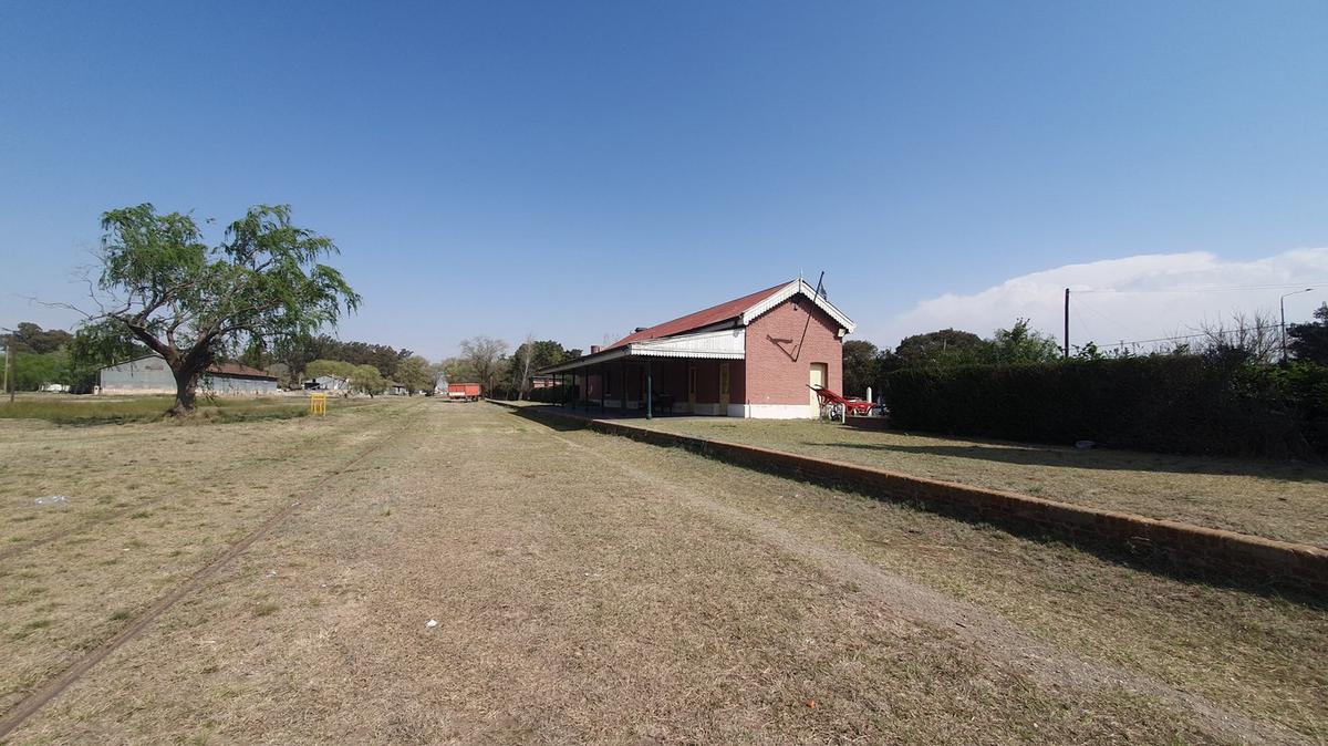
M 0 711 L 214 569 L 13 743 L 1328 739 L 1323 605 L 486 404 L 0 421 Z

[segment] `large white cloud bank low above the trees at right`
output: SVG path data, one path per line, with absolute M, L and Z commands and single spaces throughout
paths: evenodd
M 1189 335 L 1204 320 L 1228 319 L 1232 312 L 1276 313 L 1278 297 L 1296 285 L 1315 292 L 1287 299 L 1288 323 L 1308 319 L 1328 300 L 1328 248 L 1250 261 L 1199 251 L 1106 259 L 1012 277 L 975 295 L 924 300 L 891 319 L 880 341 L 947 327 L 987 336 L 1020 317 L 1060 338 L 1064 293 L 1070 288 L 1070 344 L 1093 340 L 1105 346 Z

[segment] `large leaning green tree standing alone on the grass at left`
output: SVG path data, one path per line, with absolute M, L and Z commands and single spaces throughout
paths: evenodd
M 166 358 L 175 377 L 171 414 L 194 410 L 203 372 L 251 345 L 312 336 L 360 304 L 320 260 L 336 244 L 291 223 L 284 204 L 251 207 L 210 247 L 193 216 L 151 204 L 102 215 L 100 311 L 109 325 Z

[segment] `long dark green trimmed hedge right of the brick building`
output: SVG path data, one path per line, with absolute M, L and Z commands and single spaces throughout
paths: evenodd
M 1328 455 L 1328 368 L 1201 356 L 915 368 L 886 377 L 891 426 L 1162 453 Z

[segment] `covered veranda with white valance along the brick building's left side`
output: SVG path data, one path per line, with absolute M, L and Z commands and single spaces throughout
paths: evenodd
M 540 369 L 567 386 L 562 406 L 612 415 L 741 413 L 742 329 L 647 340 Z

